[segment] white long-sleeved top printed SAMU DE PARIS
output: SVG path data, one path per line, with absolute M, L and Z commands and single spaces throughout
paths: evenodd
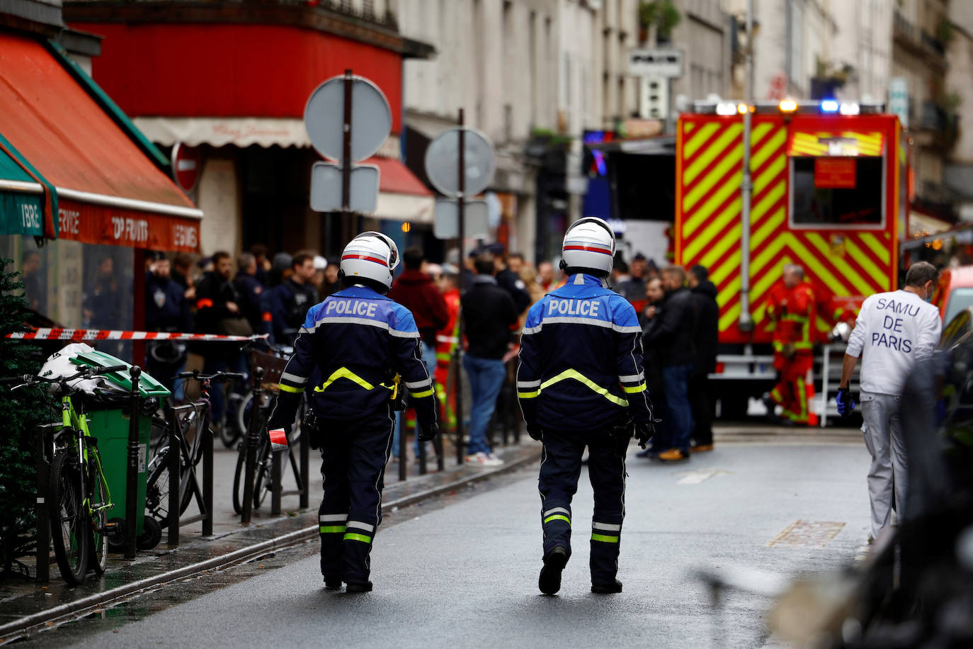
M 943 328 L 939 309 L 909 291 L 865 300 L 846 353 L 861 356 L 862 392 L 899 396 L 917 362 L 932 355 Z

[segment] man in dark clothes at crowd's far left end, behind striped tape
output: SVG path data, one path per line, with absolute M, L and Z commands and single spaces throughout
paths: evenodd
M 161 252 L 149 253 L 152 263 L 145 272 L 145 329 L 146 331 L 193 331 L 193 313 L 184 297 L 182 286 L 172 280 L 171 265 Z M 186 363 L 186 344 L 173 341 L 149 343 L 146 365 L 149 376 L 159 379 L 173 391 L 173 398 L 181 401 L 182 383 L 174 385 L 173 377 Z M 176 389 L 173 389 L 176 388 Z

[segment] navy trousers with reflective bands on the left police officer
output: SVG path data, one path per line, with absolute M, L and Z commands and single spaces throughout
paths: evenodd
M 366 582 L 381 523 L 381 489 L 395 417 L 385 406 L 357 419 L 318 419 L 324 497 L 318 509 L 321 574 Z

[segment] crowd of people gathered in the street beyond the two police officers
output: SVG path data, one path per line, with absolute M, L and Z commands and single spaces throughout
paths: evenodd
M 422 359 L 429 376 L 435 378 L 441 415 L 450 425 L 455 424 L 455 399 L 446 386 L 459 341 L 457 317 L 463 313 L 462 368 L 471 396 L 466 461 L 496 466 L 502 460 L 490 448 L 487 428 L 508 380 L 508 361 L 519 349 L 528 308 L 566 278 L 554 263 L 542 261 L 535 266 L 523 254 L 508 253 L 500 243 L 473 250 L 462 268 L 452 252 L 447 262 L 439 264 L 427 260 L 418 247 L 406 249 L 404 270 L 392 282 L 388 297 L 414 315 Z M 611 284 L 640 313 L 651 394 L 665 414 L 665 426 L 652 447 L 640 455 L 666 462 L 686 459 L 692 450 L 711 450 L 714 404 L 706 376 L 715 366 L 717 307 L 715 286 L 706 278 L 706 270 L 660 270 L 641 253 L 635 253 L 631 263 L 618 253 Z M 270 343 L 293 345 L 307 310 L 341 288 L 339 266 L 313 250 L 270 258 L 266 246 L 255 245 L 235 260 L 218 251 L 197 263 L 184 254 L 171 261 L 153 254 L 146 270 L 146 328 L 267 334 Z M 183 397 L 182 386 L 168 378 L 182 370 L 189 351 L 203 357 L 204 372 L 247 370 L 243 355 L 233 345 L 192 349 L 182 343 L 154 343 L 148 350 L 148 371 L 171 385 L 177 399 Z M 214 394 L 215 420 L 224 409 L 222 395 Z M 396 417 L 391 450 L 395 459 L 400 454 L 399 436 L 417 426 L 411 415 Z M 425 451 L 427 459 L 435 459 L 435 450 Z M 414 453 L 419 454 L 417 442 Z

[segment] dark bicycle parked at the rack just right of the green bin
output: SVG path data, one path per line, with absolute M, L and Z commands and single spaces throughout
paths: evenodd
M 159 427 L 157 451 L 149 462 L 149 477 L 146 481 L 145 495 L 146 511 L 153 519 L 164 523 L 169 516 L 169 470 L 168 454 L 169 435 L 175 435 L 179 450 L 179 514 L 186 512 L 193 496 L 202 498 L 196 467 L 203 455 L 202 439 L 204 435 L 214 435 L 210 427 L 209 391 L 212 383 L 220 383 L 236 379 L 246 379 L 236 372 L 217 372 L 203 375 L 196 372 L 183 372 L 176 379 L 194 379 L 199 381 L 200 396 L 198 400 L 176 408 L 174 421 L 153 419 L 153 426 Z M 218 387 L 216 389 L 219 389 Z M 175 428 L 173 429 L 173 423 Z

